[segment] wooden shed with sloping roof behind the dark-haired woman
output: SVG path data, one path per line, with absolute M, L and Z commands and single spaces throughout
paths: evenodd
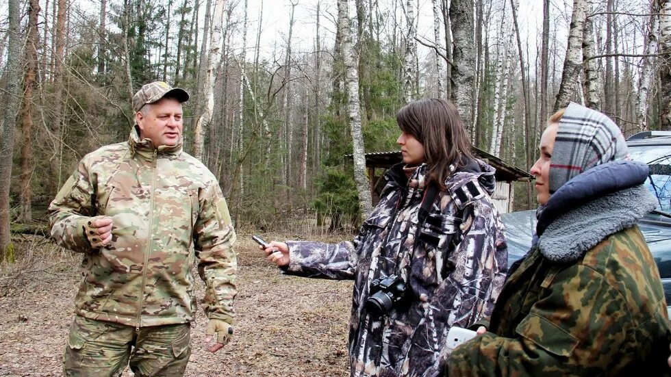
M 533 177 L 528 172 L 514 166 L 506 164 L 502 159 L 490 155 L 479 148 L 473 148 L 475 157 L 490 164 L 496 169 L 496 190 L 492 195 L 494 205 L 501 213 L 507 213 L 513 209 L 514 191 L 512 183 L 514 181 L 529 182 Z M 352 157 L 352 155 L 348 155 Z M 375 152 L 366 153 L 366 168 L 368 168 L 368 179 L 370 180 L 370 194 L 372 196 L 373 205 L 380 200 L 379 191 L 383 187 L 379 187 L 381 177 L 390 166 L 398 164 L 403 161 L 401 151 L 390 152 Z

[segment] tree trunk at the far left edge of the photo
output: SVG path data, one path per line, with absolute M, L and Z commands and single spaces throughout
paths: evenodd
M 21 8 L 18 0 L 8 0 L 8 60 L 5 84 L 2 138 L 0 140 L 0 261 L 14 261 L 10 235 L 10 186 L 12 185 L 12 153 L 16 130 L 16 109 L 21 96 Z

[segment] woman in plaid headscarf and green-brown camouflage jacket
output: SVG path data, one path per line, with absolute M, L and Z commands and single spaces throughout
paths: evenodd
M 648 166 L 620 128 L 571 103 L 550 117 L 531 168 L 540 207 L 454 376 L 667 376 L 671 331 L 659 272 L 637 222 L 655 209 Z

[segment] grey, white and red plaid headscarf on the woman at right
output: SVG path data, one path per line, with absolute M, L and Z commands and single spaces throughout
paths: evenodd
M 624 157 L 620 128 L 604 114 L 570 103 L 559 120 L 550 159 L 550 194 L 581 172 Z

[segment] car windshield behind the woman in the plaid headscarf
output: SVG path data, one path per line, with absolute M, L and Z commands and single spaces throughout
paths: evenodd
M 629 155 L 648 164 L 645 185 L 657 197 L 657 209 L 671 213 L 671 145 L 629 146 Z

